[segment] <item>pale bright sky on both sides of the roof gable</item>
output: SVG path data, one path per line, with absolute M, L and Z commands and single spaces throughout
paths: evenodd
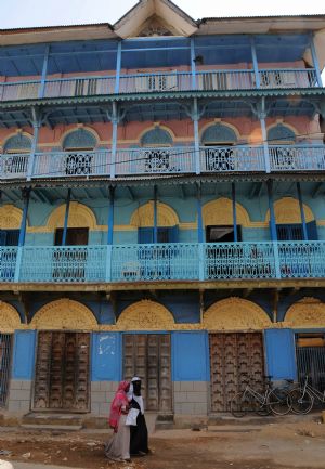
M 114 24 L 136 0 L 0 0 L 0 28 Z M 194 19 L 209 16 L 325 14 L 324 0 L 174 0 Z

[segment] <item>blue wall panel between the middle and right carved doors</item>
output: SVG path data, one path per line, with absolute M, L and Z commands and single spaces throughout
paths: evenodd
M 172 333 L 171 363 L 173 381 L 209 381 L 208 334 Z

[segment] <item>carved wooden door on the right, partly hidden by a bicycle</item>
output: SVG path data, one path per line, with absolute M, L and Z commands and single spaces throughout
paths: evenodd
M 211 412 L 230 411 L 232 396 L 249 383 L 262 390 L 264 375 L 261 333 L 210 334 Z

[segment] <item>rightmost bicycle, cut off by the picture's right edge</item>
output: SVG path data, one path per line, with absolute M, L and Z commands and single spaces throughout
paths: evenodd
M 315 400 L 325 403 L 325 390 L 318 391 L 308 383 L 309 376 L 306 375 L 303 386 L 294 388 L 290 392 L 291 408 L 295 414 L 308 414 L 313 408 Z

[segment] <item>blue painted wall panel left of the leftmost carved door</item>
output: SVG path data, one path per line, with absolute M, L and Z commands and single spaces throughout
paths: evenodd
M 35 366 L 36 331 L 16 330 L 12 362 L 13 379 L 32 379 Z

